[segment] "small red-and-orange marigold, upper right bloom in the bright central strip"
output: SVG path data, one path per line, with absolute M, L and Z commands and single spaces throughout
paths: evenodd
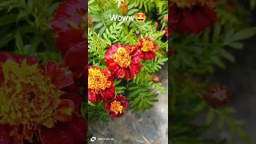
M 142 38 L 138 40 L 138 48 L 142 50 L 143 59 L 153 59 L 157 45 L 150 38 Z

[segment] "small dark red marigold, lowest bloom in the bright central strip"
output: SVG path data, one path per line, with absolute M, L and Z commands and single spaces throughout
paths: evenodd
M 124 115 L 123 110 L 128 109 L 128 102 L 126 102 L 125 96 L 118 94 L 114 100 L 105 102 L 104 108 L 109 113 L 110 118 L 119 118 Z

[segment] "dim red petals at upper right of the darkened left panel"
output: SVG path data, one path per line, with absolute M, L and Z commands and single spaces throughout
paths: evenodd
M 86 2 L 84 0 L 62 2 L 55 10 L 54 18 L 50 21 L 63 61 L 74 72 L 74 78 L 82 79 L 81 82 L 84 82 L 87 63 Z

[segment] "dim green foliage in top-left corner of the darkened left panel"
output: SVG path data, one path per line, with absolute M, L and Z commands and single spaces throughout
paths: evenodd
M 58 1 L 10 0 L 0 2 L 0 49 L 59 59 L 54 52 L 54 34 L 49 26 Z M 53 54 L 50 54 L 50 51 Z M 46 58 L 49 56 L 48 58 Z

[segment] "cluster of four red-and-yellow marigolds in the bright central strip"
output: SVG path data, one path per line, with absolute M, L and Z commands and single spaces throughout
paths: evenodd
M 123 115 L 128 108 L 126 97 L 115 94 L 114 78 L 133 79 L 141 68 L 142 59 L 155 57 L 156 44 L 150 38 L 138 39 L 137 45 L 109 46 L 104 55 L 108 70 L 88 67 L 88 100 L 89 102 L 105 102 L 105 110 L 111 118 Z

